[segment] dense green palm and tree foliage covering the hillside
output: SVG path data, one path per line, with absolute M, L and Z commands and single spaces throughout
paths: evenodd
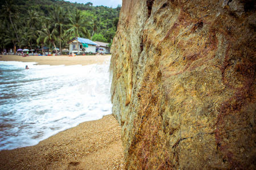
M 67 47 L 73 37 L 112 42 L 121 7 L 58 0 L 0 1 L 0 51 Z

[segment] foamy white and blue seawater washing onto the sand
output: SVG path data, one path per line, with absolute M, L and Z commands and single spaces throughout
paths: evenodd
M 49 66 L 0 61 L 0 150 L 32 146 L 112 113 L 109 61 Z M 28 65 L 30 69 L 24 69 Z

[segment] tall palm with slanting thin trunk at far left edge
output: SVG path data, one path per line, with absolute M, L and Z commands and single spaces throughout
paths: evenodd
M 6 0 L 5 1 L 5 5 L 2 5 L 3 15 L 5 16 L 5 18 L 9 18 L 11 26 L 13 27 L 13 30 L 15 32 L 16 39 L 18 40 L 18 43 L 19 43 L 18 33 L 17 33 L 16 28 L 15 28 L 15 26 L 13 24 L 13 20 L 11 19 L 16 14 L 16 10 L 15 9 L 16 9 L 16 7 L 13 4 L 12 0 Z

